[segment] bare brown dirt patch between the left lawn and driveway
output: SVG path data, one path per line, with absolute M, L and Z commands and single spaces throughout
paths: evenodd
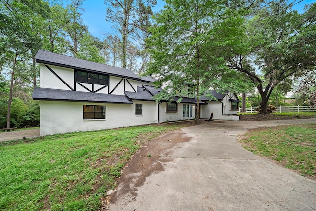
M 126 197 L 127 201 L 133 200 L 137 196 L 137 187 L 142 186 L 151 174 L 163 171 L 164 163 L 172 161 L 172 158 L 166 158 L 172 152 L 169 149 L 175 149 L 178 143 L 186 141 L 190 141 L 190 138 L 186 137 L 181 130 L 177 130 L 141 146 L 127 162 L 122 175 L 117 179 L 118 191 L 103 199 L 107 203 L 104 203 L 101 210 L 104 210 L 109 202 L 115 202 L 118 197 Z

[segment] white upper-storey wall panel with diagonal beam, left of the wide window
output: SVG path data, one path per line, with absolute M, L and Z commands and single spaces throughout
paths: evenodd
M 74 69 L 48 65 L 70 87 L 74 88 Z M 40 64 L 40 87 L 71 90 L 57 78 L 45 65 Z

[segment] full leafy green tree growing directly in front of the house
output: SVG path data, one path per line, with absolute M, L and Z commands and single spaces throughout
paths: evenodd
M 234 91 L 244 85 L 224 65 L 223 57 L 218 56 L 222 51 L 231 52 L 231 42 L 226 41 L 242 33 L 239 25 L 243 18 L 236 8 L 220 0 L 166 0 L 166 3 L 149 29 L 152 34 L 147 44 L 152 62 L 147 74 L 158 75 L 156 84 L 165 86 L 156 96 L 157 101 L 187 95 L 188 84 L 194 88 L 199 123 L 199 99 L 210 87 Z

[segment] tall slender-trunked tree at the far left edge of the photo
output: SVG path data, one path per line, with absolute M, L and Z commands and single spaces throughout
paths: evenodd
M 40 43 L 40 26 L 37 23 L 43 16 L 47 17 L 48 4 L 40 0 L 19 1 L 1 0 L 0 1 L 0 40 L 1 60 L 8 69 L 11 69 L 10 93 L 7 109 L 7 128 L 10 128 L 10 113 L 12 92 L 14 84 L 14 74 L 19 60 L 25 59 L 25 54 L 30 49 L 35 49 Z M 30 58 L 30 57 L 29 57 Z

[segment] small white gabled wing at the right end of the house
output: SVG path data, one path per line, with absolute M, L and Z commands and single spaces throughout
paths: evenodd
M 237 95 L 230 91 L 217 92 L 216 90 L 210 91 L 210 94 L 216 100 L 210 100 L 205 95 L 201 100 L 204 102 L 201 105 L 200 118 L 210 118 L 213 113 L 213 119 L 218 120 L 239 120 L 237 112 L 239 110 L 239 103 L 241 102 Z

